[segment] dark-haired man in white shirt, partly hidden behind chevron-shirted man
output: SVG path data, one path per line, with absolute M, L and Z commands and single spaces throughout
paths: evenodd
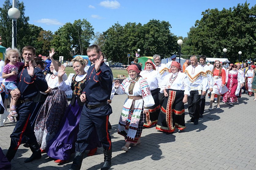
M 203 70 L 207 76 L 207 80 L 208 80 L 207 87 L 206 87 L 206 93 L 207 93 L 208 89 L 209 89 L 209 92 L 213 91 L 214 81 L 213 81 L 213 73 L 212 73 L 210 67 L 205 64 L 205 61 L 206 61 L 206 56 L 201 55 L 199 57 L 199 62 L 200 62 L 200 66 L 203 68 Z M 200 117 L 203 117 L 204 110 L 205 110 L 205 96 L 201 95 Z

